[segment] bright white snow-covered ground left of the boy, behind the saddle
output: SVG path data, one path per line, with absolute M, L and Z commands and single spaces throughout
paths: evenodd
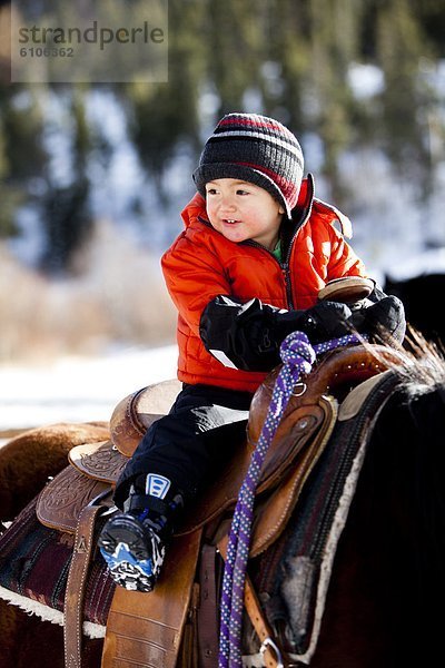
M 121 399 L 176 377 L 177 347 L 66 357 L 46 366 L 0 366 L 0 432 L 55 422 L 109 420 Z

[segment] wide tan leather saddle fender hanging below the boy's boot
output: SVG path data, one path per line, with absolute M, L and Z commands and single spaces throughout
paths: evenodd
M 108 613 L 102 668 L 175 668 L 190 605 L 202 530 L 175 537 L 154 591 L 117 587 Z

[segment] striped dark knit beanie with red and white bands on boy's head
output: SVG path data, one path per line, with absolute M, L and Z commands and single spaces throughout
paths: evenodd
M 297 204 L 304 158 L 297 138 L 284 125 L 257 114 L 228 114 L 215 128 L 194 173 L 199 193 L 216 178 L 239 178 L 260 186 L 285 207 Z

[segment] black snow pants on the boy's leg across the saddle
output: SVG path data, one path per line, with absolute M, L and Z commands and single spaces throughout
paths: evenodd
M 147 430 L 122 471 L 116 504 L 122 508 L 141 474 L 165 475 L 186 501 L 211 484 L 245 438 L 251 399 L 249 392 L 185 384 L 169 414 Z

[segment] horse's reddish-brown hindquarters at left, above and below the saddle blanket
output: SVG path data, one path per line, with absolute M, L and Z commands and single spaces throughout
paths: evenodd
M 102 421 L 57 423 L 26 430 L 0 448 L 2 530 L 41 491 L 48 479 L 66 466 L 72 448 L 103 441 L 108 435 L 108 424 Z M 63 666 L 61 628 L 3 599 L 0 599 L 0 665 L 4 668 Z M 100 652 L 101 641 L 86 641 L 86 666 L 99 666 Z

